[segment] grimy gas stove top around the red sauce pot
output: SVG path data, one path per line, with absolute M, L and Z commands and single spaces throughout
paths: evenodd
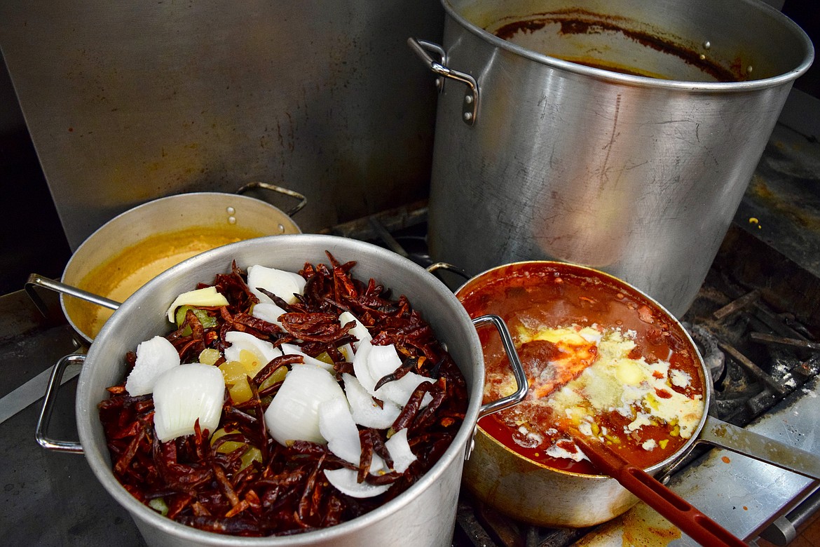
M 817 153 L 816 142 L 777 127 L 695 303 L 681 318 L 712 373 L 710 414 L 815 454 L 820 198 L 811 180 L 820 173 Z M 370 240 L 429 267 L 425 230 L 423 209 L 402 208 L 330 233 Z M 442 280 L 453 289 L 463 281 L 448 275 Z M 704 444 L 664 480 L 736 536 L 775 545 L 786 545 L 795 527 L 820 508 L 816 481 Z M 517 522 L 467 492 L 454 545 L 630 543 L 696 545 L 642 503 L 594 529 L 549 529 Z

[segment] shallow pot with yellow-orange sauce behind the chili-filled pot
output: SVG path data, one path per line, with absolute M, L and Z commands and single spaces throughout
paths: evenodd
M 62 282 L 124 302 L 162 271 L 208 249 L 299 233 L 285 212 L 256 198 L 221 192 L 168 196 L 98 228 L 71 256 Z M 60 302 L 71 326 L 89 342 L 113 313 L 68 294 L 61 294 Z

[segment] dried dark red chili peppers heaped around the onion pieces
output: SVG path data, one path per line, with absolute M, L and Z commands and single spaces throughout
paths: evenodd
M 215 276 L 211 285 L 225 295 L 229 305 L 202 308 L 216 319 L 217 326 L 204 329 L 189 311 L 184 325 L 167 338 L 183 362 L 192 362 L 202 349 L 224 353 L 230 345 L 225 342 L 226 333 L 241 330 L 274 346 L 298 343 L 312 357 L 326 354 L 340 376 L 353 373 L 340 348 L 355 341 L 350 334 L 355 323 L 338 320 L 339 312 L 351 312 L 371 331 L 374 344 L 394 344 L 403 358 L 402 366 L 381 379 L 380 385 L 410 371 L 435 381 L 417 388 L 394 424 L 396 431 L 408 428 L 408 442 L 417 461 L 403 473 L 371 474 L 373 454 L 389 466 L 392 462 L 385 448 L 385 432 L 367 428 L 360 428 L 358 466 L 338 458 L 324 444 L 301 440 L 289 446 L 276 444 L 267 434 L 262 414 L 280 383 L 266 385 L 264 390 L 260 386 L 279 367 L 303 362 L 300 356 L 285 355 L 267 363 L 250 381 L 251 399 L 241 404 L 225 399 L 220 422 L 225 435 L 212 442 L 197 429 L 194 435 L 160 443 L 153 433 L 151 397 L 130 397 L 124 384 L 109 388 L 111 398 L 99 404 L 100 419 L 115 475 L 136 499 L 146 504 L 164 499 L 169 517 L 202 530 L 237 536 L 289 535 L 333 526 L 378 507 L 406 490 L 440 458 L 466 412 L 467 389 L 461 372 L 406 298 L 391 299 L 376 280 L 363 283 L 355 279 L 351 275 L 355 262 L 340 263 L 330 253 L 328 260 L 330 266 L 304 265 L 299 273 L 306 279 L 305 290 L 296 303 L 285 303 L 262 290 L 285 309 L 283 329 L 253 317 L 258 299 L 244 271 L 233 262 L 230 273 Z M 204 286 L 208 285 L 198 288 Z M 190 327 L 189 335 L 183 335 L 184 327 Z M 134 352 L 126 354 L 128 370 L 135 358 Z M 432 403 L 422 408 L 427 393 Z M 226 446 L 239 448 L 228 451 Z M 258 449 L 262 462 L 245 463 L 248 448 L 243 446 Z M 230 453 L 223 454 L 223 450 Z M 330 486 L 322 474 L 339 467 L 356 470 L 369 484 L 391 487 L 375 498 L 348 497 Z

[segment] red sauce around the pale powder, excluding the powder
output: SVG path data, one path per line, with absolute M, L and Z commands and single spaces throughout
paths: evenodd
M 598 326 L 604 330 L 618 328 L 622 332 L 634 331 L 636 347 L 631 351 L 630 358 L 643 356 L 649 363 L 659 360 L 669 362 L 670 370 L 677 369 L 690 377 L 688 385 L 667 385 L 662 390 L 656 390 L 658 399 L 671 398 L 674 390 L 689 399 L 699 397 L 703 400 L 702 368 L 681 326 L 640 292 L 612 277 L 568 264 L 523 262 L 471 280 L 459 291 L 458 298 L 471 317 L 491 313 L 503 318 L 519 349 L 519 357 L 528 370 L 531 385 L 531 371 L 546 366 L 551 358 L 555 358 L 554 348 L 546 341 L 524 344 L 526 340 L 521 340 L 517 334 L 520 331 L 518 327 L 525 324 L 531 326 L 534 321 L 544 328 L 576 324 Z M 510 365 L 499 336 L 490 329 L 482 329 L 479 337 L 484 349 L 487 377 L 490 378 L 493 372 L 509 371 Z M 585 367 L 580 368 L 575 376 Z M 556 389 L 569 380 L 572 377 L 560 378 L 561 385 Z M 546 396 L 549 397 L 549 394 Z M 541 429 L 549 430 L 556 424 L 552 408 L 539 405 L 531 410 L 535 421 L 543 426 Z M 544 454 L 553 443 L 570 452 L 577 450 L 571 441 L 562 440 L 567 439 L 567 435 L 561 431 L 556 431 L 540 444 L 522 446 L 535 444 L 535 441 L 522 443 L 522 435 L 503 422 L 505 417 L 511 416 L 510 413 L 512 410 L 484 417 L 479 426 L 509 449 L 535 462 L 572 472 L 597 474 L 587 460 L 575 462 L 570 458 L 552 458 Z M 624 458 L 640 467 L 650 467 L 663 461 L 688 440 L 675 435 L 674 427 L 666 422 L 641 426 L 627 434 L 625 428 L 631 421 L 632 417 L 614 411 L 595 416 L 595 423 L 606 427 L 607 442 L 611 448 L 617 449 Z M 641 448 L 647 440 L 667 441 L 651 450 Z

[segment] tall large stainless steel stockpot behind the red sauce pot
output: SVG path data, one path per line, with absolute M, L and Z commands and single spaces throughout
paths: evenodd
M 443 46 L 410 39 L 442 90 L 431 257 L 585 264 L 681 317 L 809 37 L 758 0 L 442 4 Z

